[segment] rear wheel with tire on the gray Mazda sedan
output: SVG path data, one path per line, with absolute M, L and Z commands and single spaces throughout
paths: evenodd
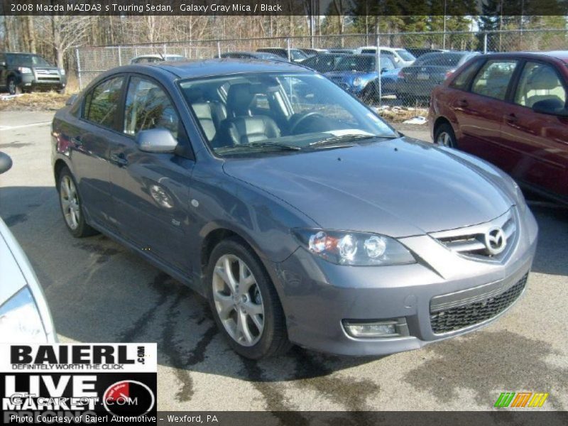
M 68 168 L 63 168 L 58 180 L 59 205 L 65 226 L 75 238 L 92 236 L 98 232 L 84 220 L 84 212 L 77 182 Z

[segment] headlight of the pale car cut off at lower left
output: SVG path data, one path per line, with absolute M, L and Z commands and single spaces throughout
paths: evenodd
M 38 307 L 27 287 L 0 307 L 0 341 L 4 343 L 47 342 Z

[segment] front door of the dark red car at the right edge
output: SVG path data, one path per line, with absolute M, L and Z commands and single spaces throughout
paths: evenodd
M 532 110 L 537 102 L 567 105 L 567 84 L 554 64 L 528 60 L 513 103 L 501 111 L 503 147 L 515 163 L 508 172 L 532 185 L 568 197 L 568 118 Z

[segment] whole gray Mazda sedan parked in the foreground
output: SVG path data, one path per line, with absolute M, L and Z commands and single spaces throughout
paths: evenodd
M 477 329 L 523 293 L 518 186 L 406 138 L 285 62 L 105 72 L 53 120 L 74 236 L 102 231 L 209 299 L 239 354 L 391 354 Z

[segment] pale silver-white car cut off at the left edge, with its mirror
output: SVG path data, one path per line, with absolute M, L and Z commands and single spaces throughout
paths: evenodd
M 0 153 L 0 174 L 10 167 L 9 156 Z M 0 265 L 0 342 L 57 342 L 50 310 L 38 278 L 2 219 Z

